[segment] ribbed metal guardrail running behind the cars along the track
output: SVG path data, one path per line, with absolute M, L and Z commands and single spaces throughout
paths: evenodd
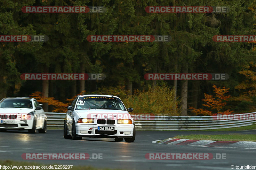
M 66 113 L 45 112 L 48 129 L 62 129 Z M 236 114 L 237 115 L 237 114 Z M 224 119 L 218 116 L 140 116 L 134 120 L 137 130 L 210 130 L 242 127 L 256 124 L 256 112 L 239 114 L 244 120 Z M 235 117 L 235 115 L 233 115 Z M 248 118 L 246 118 L 248 117 Z M 253 118 L 252 118 L 253 117 Z M 250 118 L 250 119 L 249 119 Z M 138 120 L 139 119 L 139 120 Z M 151 119 L 151 120 L 142 120 Z

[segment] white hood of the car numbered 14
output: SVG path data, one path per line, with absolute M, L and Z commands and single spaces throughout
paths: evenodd
M 125 110 L 107 110 L 107 109 L 86 109 L 76 110 L 81 118 L 97 119 L 132 119 L 129 112 Z

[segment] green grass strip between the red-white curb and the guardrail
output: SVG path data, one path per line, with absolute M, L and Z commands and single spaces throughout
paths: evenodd
M 253 141 L 256 142 L 256 135 L 240 135 L 240 134 L 232 134 L 232 135 L 179 135 L 173 138 L 179 139 L 195 139 L 195 140 L 218 140 L 218 141 Z

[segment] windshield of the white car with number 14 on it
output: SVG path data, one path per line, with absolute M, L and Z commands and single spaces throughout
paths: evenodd
M 78 99 L 76 110 L 81 109 L 125 110 L 125 107 L 121 100 L 116 97 L 86 96 Z

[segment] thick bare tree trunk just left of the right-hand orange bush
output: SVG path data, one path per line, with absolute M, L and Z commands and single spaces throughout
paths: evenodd
M 184 66 L 183 73 L 188 73 L 188 66 Z M 188 116 L 188 80 L 182 80 L 181 85 L 181 116 Z

